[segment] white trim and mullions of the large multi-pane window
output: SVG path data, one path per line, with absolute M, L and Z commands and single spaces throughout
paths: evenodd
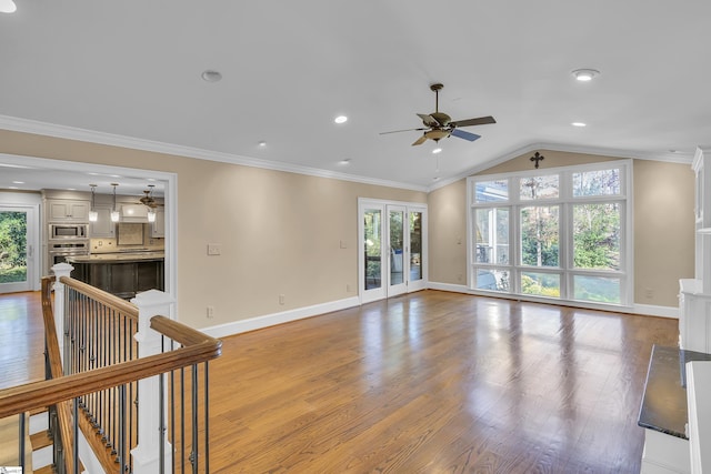
M 482 294 L 482 295 L 495 295 L 499 297 L 510 297 L 515 300 L 525 300 L 525 301 L 539 301 L 545 303 L 561 304 L 561 305 L 573 305 L 580 307 L 592 307 L 592 309 L 607 309 L 614 307 L 617 310 L 631 310 L 634 302 L 634 249 L 633 249 L 633 239 L 634 239 L 634 202 L 633 202 L 633 188 L 632 188 L 632 160 L 614 160 L 614 161 L 605 161 L 599 163 L 589 163 L 582 165 L 571 165 L 571 167 L 558 167 L 558 168 L 549 168 L 549 169 L 539 169 L 533 171 L 517 171 L 510 173 L 498 173 L 498 174 L 478 174 L 473 177 L 469 177 L 467 179 L 467 286 L 469 292 L 472 294 Z M 601 196 L 589 196 L 589 198 L 573 198 L 572 196 L 572 174 L 577 172 L 584 171 L 595 171 L 595 170 L 604 170 L 610 168 L 619 168 L 620 169 L 620 186 L 621 192 L 619 195 L 601 195 Z M 548 174 L 560 174 L 561 182 L 559 186 L 559 198 L 557 199 L 542 199 L 542 200 L 521 200 L 519 195 L 518 189 L 518 179 L 520 178 L 531 178 L 535 175 L 548 175 Z M 508 201 L 495 201 L 495 202 L 487 202 L 487 203 L 475 203 L 474 202 L 474 190 L 475 183 L 480 181 L 495 181 L 495 180 L 508 180 L 509 181 L 509 200 Z M 621 212 L 621 222 L 623 222 L 622 233 L 623 235 L 620 239 L 620 252 L 623 255 L 623 261 L 621 263 L 621 269 L 619 272 L 611 272 L 607 270 L 574 270 L 569 268 L 568 262 L 572 259 L 572 245 L 570 245 L 571 236 L 570 236 L 570 221 L 572 219 L 572 204 L 573 203 L 594 203 L 594 202 L 613 202 L 618 201 L 622 205 L 620 206 Z M 560 225 L 560 234 L 559 242 L 561 242 L 561 246 L 564 248 L 561 250 L 559 254 L 559 266 L 558 268 L 538 268 L 531 266 L 530 270 L 533 272 L 540 273 L 557 273 L 561 275 L 561 294 L 564 289 L 572 285 L 572 280 L 574 275 L 591 275 L 591 276 L 620 276 L 621 285 L 620 285 L 620 303 L 598 303 L 598 302 L 589 302 L 589 301 L 580 301 L 572 299 L 555 299 L 555 297 L 545 297 L 545 296 L 537 296 L 530 294 L 520 293 L 519 288 L 519 279 L 517 278 L 518 272 L 525 271 L 528 269 L 525 265 L 521 265 L 518 262 L 519 259 L 519 219 L 518 213 L 522 205 L 528 203 L 539 203 L 544 205 L 545 203 L 559 204 L 560 215 L 559 215 L 559 225 Z M 475 209 L 481 208 L 508 208 L 510 211 L 510 225 L 509 225 L 509 242 L 511 243 L 511 248 L 509 250 L 509 265 L 497 265 L 497 264 L 477 264 L 474 259 L 474 235 L 473 235 L 473 212 Z M 565 242 L 564 244 L 562 242 Z M 475 272 L 480 268 L 490 266 L 493 269 L 502 269 L 507 268 L 513 272 L 511 275 L 511 281 L 509 292 L 500 292 L 500 291 L 487 291 L 479 290 L 474 288 L 475 282 Z

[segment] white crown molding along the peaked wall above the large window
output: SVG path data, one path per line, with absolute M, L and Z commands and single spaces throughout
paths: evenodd
M 703 147 L 701 148 L 703 149 Z M 447 180 L 438 181 L 437 183 L 430 185 L 428 188 L 428 192 L 438 190 L 448 184 L 462 180 L 464 178 L 471 177 L 472 174 L 477 174 L 480 171 L 488 170 L 489 168 L 493 168 L 498 164 L 505 163 L 509 160 L 513 160 L 517 157 L 520 157 L 525 153 L 531 153 L 533 151 L 540 150 L 551 150 L 551 151 L 562 151 L 569 153 L 583 153 L 583 154 L 597 154 L 600 157 L 613 157 L 613 158 L 627 158 L 634 160 L 653 160 L 653 161 L 664 161 L 668 163 L 679 163 L 679 164 L 689 164 L 691 165 L 694 154 L 693 153 L 655 153 L 655 152 L 647 152 L 647 151 L 632 151 L 632 150 L 621 150 L 621 149 L 609 149 L 609 148 L 597 148 L 597 147 L 584 147 L 584 145 L 573 145 L 573 144 L 564 144 L 564 143 L 531 143 L 522 148 L 518 148 L 511 150 L 499 158 L 495 158 L 491 161 L 487 161 L 484 163 L 478 164 L 463 173 L 459 173 L 455 177 L 449 178 Z

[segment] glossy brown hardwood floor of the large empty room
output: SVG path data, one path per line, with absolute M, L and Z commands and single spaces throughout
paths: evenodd
M 649 356 L 677 327 L 423 291 L 226 337 L 211 471 L 639 472 Z

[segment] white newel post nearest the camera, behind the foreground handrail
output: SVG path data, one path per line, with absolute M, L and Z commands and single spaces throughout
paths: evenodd
M 154 315 L 169 316 L 174 303 L 168 294 L 150 290 L 139 293 L 131 303 L 138 306 L 138 355 L 146 357 L 161 353 L 161 335 L 150 327 Z M 162 401 L 161 401 L 162 399 Z M 161 403 L 162 402 L 162 403 Z M 138 382 L 138 440 L 139 444 L 131 450 L 133 472 L 136 474 L 153 474 L 161 472 L 161 445 L 163 447 L 164 472 L 171 472 L 171 446 L 166 432 L 168 414 L 168 392 L 160 392 L 160 376 L 143 379 Z M 161 405 L 162 420 L 161 426 Z

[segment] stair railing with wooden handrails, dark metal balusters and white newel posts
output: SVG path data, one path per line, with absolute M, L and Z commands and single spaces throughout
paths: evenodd
M 70 336 L 63 343 L 63 365 L 72 373 L 0 391 L 0 418 L 47 406 L 66 406 L 70 422 L 58 423 L 63 426 L 59 437 L 62 444 L 60 457 L 64 460 L 63 467 L 61 463 L 56 465 L 58 472 L 78 473 L 81 458 L 84 466 L 87 463 L 101 464 L 92 468 L 87 466 L 90 472 L 208 473 L 208 361 L 220 355 L 221 342 L 169 317 L 153 315 L 170 314 L 172 302 L 162 292 L 149 291 L 133 300 L 139 322 L 137 332 L 133 329 L 127 332 L 133 334 L 131 341 L 121 335 L 123 342 L 112 343 L 112 347 L 107 350 L 107 359 L 111 363 L 97 366 L 98 349 L 94 351 L 92 347 L 104 347 L 92 345 L 87 336 L 98 334 L 102 337 L 104 333 L 113 332 L 116 326 L 123 331 L 123 322 L 102 326 L 97 321 L 89 321 L 87 314 L 91 313 L 90 309 L 96 310 L 94 300 L 109 303 L 109 306 L 118 302 L 111 295 L 68 276 L 58 276 L 57 280 L 54 309 L 80 310 L 74 316 L 66 319 L 62 314 L 61 319 L 54 317 L 48 323 L 54 327 L 50 330 L 54 336 L 54 324 L 61 327 L 62 334 L 68 331 L 74 333 L 73 340 Z M 49 289 L 49 283 L 43 281 L 44 286 Z M 83 296 L 76 297 L 73 291 Z M 91 302 L 82 300 L 87 295 Z M 43 312 L 46 307 L 51 312 L 50 291 L 43 290 Z M 103 314 L 102 311 L 99 313 Z M 133 347 L 133 339 L 138 340 L 136 352 L 130 349 Z M 56 346 L 59 345 L 57 341 Z M 126 353 L 136 356 L 121 360 L 119 355 Z M 186 371 L 190 373 L 188 383 L 184 383 Z M 177 381 L 183 381 L 183 384 L 177 385 Z M 97 434 L 91 422 L 92 417 L 98 418 L 96 412 L 100 410 L 117 416 L 110 422 L 111 431 L 117 435 L 112 437 L 109 456 L 104 456 L 110 460 L 108 463 L 96 460 L 102 456 L 102 451 L 106 454 L 106 442 L 97 454 L 88 447 L 88 440 L 92 436 L 103 437 L 103 434 Z M 131 410 L 136 417 L 127 415 Z M 87 417 L 84 413 L 90 415 Z M 106 427 L 102 430 L 107 431 Z M 67 462 L 73 464 L 66 465 Z M 113 468 L 107 468 L 104 464 Z

